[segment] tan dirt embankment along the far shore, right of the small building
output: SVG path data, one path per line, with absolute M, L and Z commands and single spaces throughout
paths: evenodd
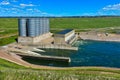
M 115 41 L 120 42 L 120 34 L 81 32 L 79 37 L 83 40 Z

